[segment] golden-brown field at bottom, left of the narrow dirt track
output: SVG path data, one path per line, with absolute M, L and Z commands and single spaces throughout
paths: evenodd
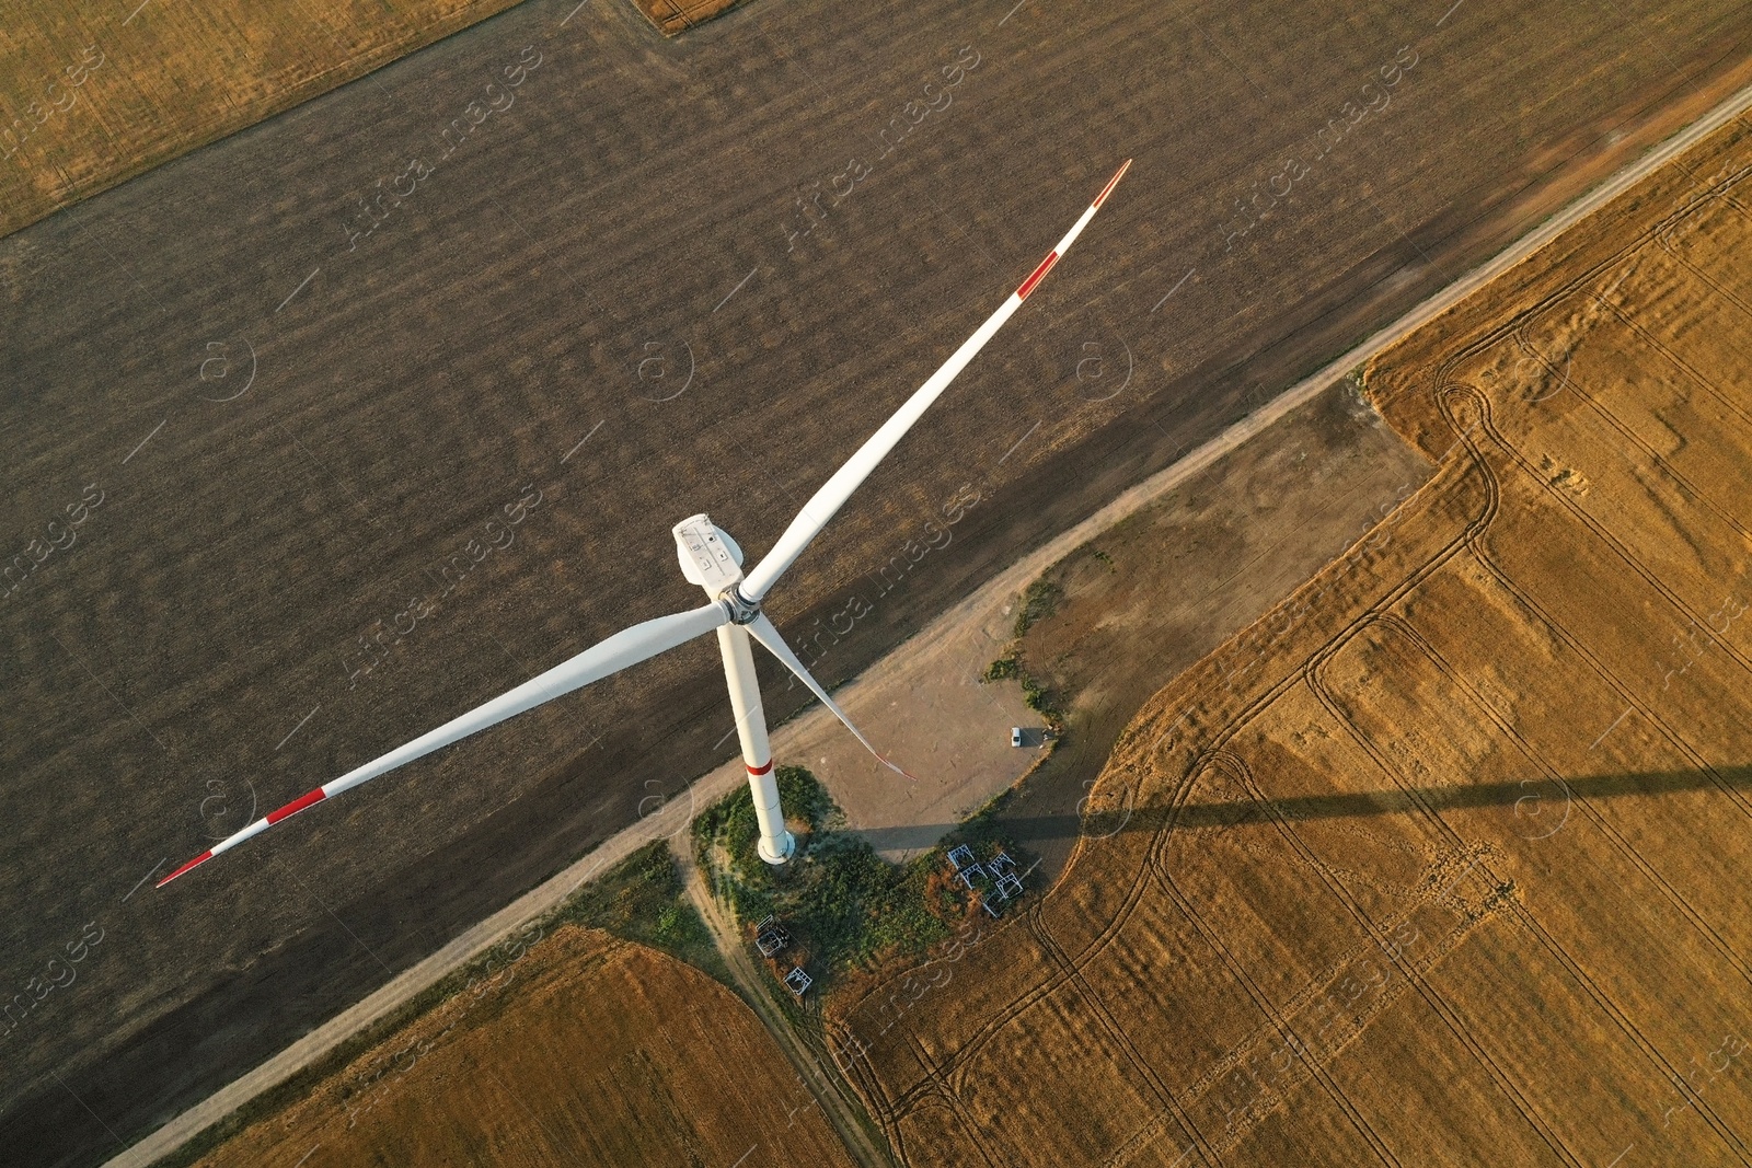
M 456 995 L 200 1168 L 851 1164 L 722 984 L 578 926 L 527 961 L 515 989 Z

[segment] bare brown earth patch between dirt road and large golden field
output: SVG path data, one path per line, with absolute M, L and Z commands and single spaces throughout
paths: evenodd
M 1162 679 L 1289 595 L 1428 476 L 1340 382 L 1041 576 L 1056 601 L 1021 660 L 1065 739 L 999 820 L 1041 858 L 1042 884 L 1063 870 L 1083 800 Z

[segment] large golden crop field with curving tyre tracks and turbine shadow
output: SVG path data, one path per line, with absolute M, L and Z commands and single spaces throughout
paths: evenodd
M 848 1003 L 909 1164 L 1752 1163 L 1752 123 L 1368 369 L 1435 464 Z

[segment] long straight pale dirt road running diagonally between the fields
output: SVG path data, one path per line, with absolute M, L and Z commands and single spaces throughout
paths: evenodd
M 957 602 L 953 608 L 946 609 L 941 616 L 925 625 L 920 632 L 913 634 L 908 641 L 897 646 L 892 653 L 881 658 L 881 665 L 887 665 L 880 672 L 895 672 L 894 662 L 908 653 L 915 653 L 920 646 L 934 644 L 941 636 L 943 629 L 955 627 L 972 615 L 990 609 L 993 606 L 1002 606 L 1014 594 L 1020 594 L 1035 576 L 1062 560 L 1070 552 L 1076 552 L 1081 545 L 1100 536 L 1104 531 L 1118 524 L 1120 520 L 1130 517 L 1132 513 L 1142 510 L 1160 496 L 1179 487 L 1193 475 L 1204 471 L 1225 454 L 1244 445 L 1254 434 L 1265 431 L 1274 422 L 1293 412 L 1296 406 L 1305 405 L 1323 389 L 1330 387 L 1333 382 L 1340 380 L 1346 373 L 1363 364 L 1370 357 L 1381 354 L 1388 347 L 1400 341 L 1409 333 L 1423 327 L 1430 320 L 1437 319 L 1449 308 L 1456 306 L 1465 298 L 1477 292 L 1480 287 L 1503 275 L 1515 264 L 1522 263 L 1547 243 L 1556 240 L 1563 231 L 1570 229 L 1587 215 L 1601 210 L 1619 194 L 1636 186 L 1650 173 L 1670 163 L 1673 158 L 1684 154 L 1692 145 L 1706 138 L 1708 135 L 1720 130 L 1724 124 L 1734 117 L 1745 114 L 1752 109 L 1752 86 L 1745 86 L 1727 100 L 1719 103 L 1708 114 L 1691 123 L 1673 137 L 1670 137 L 1661 145 L 1654 147 L 1640 159 L 1629 163 L 1610 179 L 1596 186 L 1594 189 L 1582 194 L 1579 200 L 1572 201 L 1561 212 L 1547 219 L 1542 226 L 1535 228 L 1531 233 L 1521 236 L 1507 249 L 1498 252 L 1493 259 L 1482 266 L 1459 277 L 1442 291 L 1417 303 L 1410 312 L 1398 317 L 1395 322 L 1379 329 L 1368 336 L 1360 345 L 1353 347 L 1340 357 L 1330 361 L 1326 366 L 1302 378 L 1289 389 L 1286 389 L 1277 398 L 1249 412 L 1237 422 L 1230 424 L 1214 438 L 1207 440 L 1186 457 L 1176 461 L 1174 464 L 1156 471 L 1142 483 L 1127 489 L 1111 503 L 1097 510 L 1093 515 L 1076 524 L 1074 527 L 1060 532 L 1056 538 L 1041 545 L 1023 559 L 1011 564 L 1007 569 L 992 576 L 985 585 L 981 585 L 972 595 Z M 853 679 L 843 688 L 843 693 L 855 693 L 860 685 L 871 683 L 871 672 L 867 671 L 864 678 Z M 843 700 L 843 699 L 841 699 Z M 820 706 L 809 707 L 797 723 L 808 718 L 830 718 Z M 657 839 L 671 835 L 675 832 L 685 830 L 687 821 L 669 823 L 673 816 L 668 814 L 669 807 L 692 807 L 699 806 L 699 800 L 713 800 L 720 795 L 729 793 L 739 786 L 741 776 L 739 769 L 713 769 L 711 772 L 701 776 L 694 783 L 692 797 L 687 800 L 671 800 L 664 813 L 639 820 L 638 823 L 620 830 L 618 834 L 608 837 L 594 851 L 583 858 L 571 863 L 568 869 L 557 876 L 547 879 L 543 884 L 524 893 L 506 907 L 499 909 L 487 919 L 468 928 L 466 932 L 454 937 L 449 944 L 440 947 L 431 956 L 408 967 L 389 982 L 380 986 L 371 995 L 347 1007 L 333 1019 L 317 1026 L 308 1035 L 293 1042 L 284 1051 L 261 1063 L 242 1077 L 231 1080 L 219 1091 L 212 1093 L 194 1107 L 184 1110 L 175 1119 L 158 1128 L 145 1138 L 133 1143 L 124 1152 L 105 1161 L 103 1168 L 149 1168 L 154 1161 L 163 1159 L 170 1152 L 177 1150 L 191 1138 L 210 1128 L 212 1124 L 223 1121 L 226 1115 L 244 1107 L 258 1094 L 270 1091 L 294 1073 L 317 1061 L 328 1054 L 333 1047 L 340 1045 L 357 1031 L 380 1021 L 394 1009 L 398 1009 L 406 1000 L 413 998 L 426 988 L 438 982 L 447 974 L 463 967 L 475 956 L 485 953 L 494 944 L 508 937 L 513 930 L 533 921 L 543 912 L 557 907 L 582 884 L 596 877 L 599 872 L 606 870 L 613 863 L 627 858 L 645 844 Z

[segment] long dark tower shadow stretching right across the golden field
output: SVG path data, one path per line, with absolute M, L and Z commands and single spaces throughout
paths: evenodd
M 1353 820 L 1384 814 L 1416 814 L 1419 807 L 1449 811 L 1465 807 L 1507 807 L 1515 813 L 1522 834 L 1556 834 L 1568 821 L 1573 800 L 1624 797 L 1661 797 L 1706 788 L 1752 790 L 1752 765 L 1720 770 L 1652 770 L 1638 774 L 1598 774 L 1586 777 L 1528 777 L 1514 783 L 1477 783 L 1472 786 L 1382 788 L 1332 795 L 1293 795 L 1286 799 L 1193 799 L 1179 807 L 1144 806 L 1102 811 L 1091 816 L 1004 818 L 1006 834 L 1018 844 L 1060 841 L 1076 834 L 1106 839 L 1121 832 L 1198 830 L 1239 827 L 1263 811 L 1281 820 Z M 911 827 L 853 830 L 878 851 L 930 848 L 955 830 L 957 823 L 922 823 Z

